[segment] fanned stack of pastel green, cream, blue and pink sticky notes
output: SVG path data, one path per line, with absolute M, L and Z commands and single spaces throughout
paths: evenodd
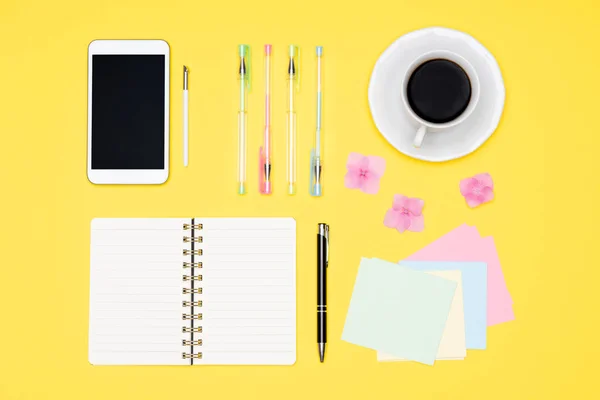
M 399 264 L 363 258 L 342 339 L 379 361 L 462 360 L 514 319 L 491 237 L 462 225 Z

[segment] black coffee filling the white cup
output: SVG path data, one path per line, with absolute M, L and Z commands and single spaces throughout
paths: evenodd
M 458 118 L 471 100 L 471 81 L 460 65 L 435 59 L 421 64 L 406 87 L 408 104 L 425 121 L 443 124 Z

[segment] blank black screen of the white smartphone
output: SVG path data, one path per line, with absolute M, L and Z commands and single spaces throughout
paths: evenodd
M 165 56 L 92 57 L 92 169 L 164 169 Z

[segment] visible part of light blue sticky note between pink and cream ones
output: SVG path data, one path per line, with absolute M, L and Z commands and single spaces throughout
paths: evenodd
M 482 262 L 400 261 L 417 271 L 462 273 L 467 349 L 483 350 L 487 342 L 487 264 Z

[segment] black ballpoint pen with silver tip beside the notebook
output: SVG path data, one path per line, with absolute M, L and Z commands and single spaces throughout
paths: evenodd
M 325 360 L 327 344 L 327 267 L 329 266 L 329 225 L 319 224 L 317 233 L 317 343 L 319 358 Z

